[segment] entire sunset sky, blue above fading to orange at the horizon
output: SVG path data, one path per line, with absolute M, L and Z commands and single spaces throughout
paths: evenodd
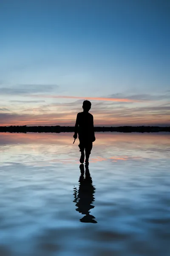
M 170 125 L 169 0 L 0 0 L 0 125 Z

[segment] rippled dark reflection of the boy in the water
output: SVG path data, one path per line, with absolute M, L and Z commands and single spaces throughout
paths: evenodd
M 91 222 L 97 223 L 94 220 L 94 216 L 90 215 L 90 209 L 93 209 L 94 206 L 91 205 L 94 202 L 94 193 L 95 188 L 92 183 L 92 178 L 89 172 L 88 167 L 85 168 L 85 177 L 84 177 L 84 165 L 80 165 L 81 175 L 79 177 L 79 191 L 74 188 L 74 202 L 78 207 L 76 210 L 82 214 L 85 214 L 83 218 L 80 219 L 81 222 Z

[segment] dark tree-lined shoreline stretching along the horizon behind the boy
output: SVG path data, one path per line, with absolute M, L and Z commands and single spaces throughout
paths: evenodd
M 118 127 L 94 127 L 95 132 L 170 132 L 170 126 L 118 126 Z M 0 126 L 0 132 L 10 133 L 60 133 L 60 132 L 74 132 L 74 126 Z

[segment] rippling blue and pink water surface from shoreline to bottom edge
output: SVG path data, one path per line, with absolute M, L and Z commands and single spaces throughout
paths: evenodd
M 0 256 L 169 256 L 170 134 L 0 134 Z M 83 173 L 84 172 L 84 173 Z

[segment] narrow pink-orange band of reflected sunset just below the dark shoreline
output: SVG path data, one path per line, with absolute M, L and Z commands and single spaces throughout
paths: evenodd
M 73 142 L 73 133 L 0 133 L 0 143 L 23 142 L 23 143 L 56 143 L 57 141 L 63 144 Z M 170 134 L 167 133 L 115 133 L 115 132 L 96 132 L 97 141 L 95 144 L 111 144 L 113 142 L 139 142 L 139 143 L 159 143 L 166 144 L 170 139 Z

